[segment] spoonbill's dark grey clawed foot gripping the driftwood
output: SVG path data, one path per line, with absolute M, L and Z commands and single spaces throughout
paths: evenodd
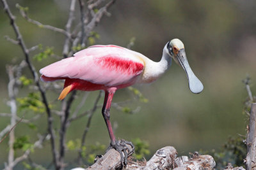
M 130 145 L 131 147 L 129 147 Z M 109 146 L 108 150 L 114 148 L 121 156 L 121 165 L 125 167 L 127 165 L 127 158 L 134 153 L 134 145 L 130 141 L 125 141 L 124 139 L 116 140 L 114 146 Z M 107 151 L 108 151 L 107 150 Z

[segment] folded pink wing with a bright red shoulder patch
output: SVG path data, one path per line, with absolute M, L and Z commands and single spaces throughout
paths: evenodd
M 40 69 L 40 73 L 44 75 L 42 80 L 79 78 L 113 87 L 129 83 L 144 69 L 144 64 L 137 55 L 120 46 L 91 46 L 74 56 Z

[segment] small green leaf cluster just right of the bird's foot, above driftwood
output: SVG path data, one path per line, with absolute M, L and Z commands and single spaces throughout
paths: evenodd
M 148 150 L 149 144 L 147 141 L 141 141 L 140 138 L 135 138 L 132 140 L 132 143 L 135 147 L 134 157 L 136 159 L 141 160 L 145 155 L 149 155 L 150 151 Z

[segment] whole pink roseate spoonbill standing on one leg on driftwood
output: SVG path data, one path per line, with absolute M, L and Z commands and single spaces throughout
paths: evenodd
M 40 69 L 42 81 L 65 80 L 58 99 L 62 100 L 72 90 L 104 90 L 102 115 L 108 127 L 110 146 L 121 155 L 122 163 L 127 160 L 127 141 L 117 141 L 111 127 L 110 107 L 117 89 L 134 83 L 151 83 L 171 66 L 172 59 L 186 71 L 191 92 L 198 94 L 204 86 L 196 78 L 186 58 L 184 45 L 172 39 L 163 49 L 160 62 L 154 62 L 141 53 L 115 45 L 94 45 L 74 54 L 74 57 L 54 62 Z M 126 146 L 125 146 L 126 145 Z M 132 146 L 133 147 L 133 146 Z M 123 157 L 122 151 L 125 153 Z

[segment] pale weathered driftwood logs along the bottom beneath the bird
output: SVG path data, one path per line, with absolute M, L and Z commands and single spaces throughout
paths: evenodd
M 130 148 L 131 149 L 131 148 Z M 95 164 L 88 167 L 89 169 L 118 169 L 121 167 L 120 154 L 114 150 L 109 150 L 103 157 L 97 160 Z M 134 162 L 131 157 L 124 169 L 132 170 L 203 170 L 213 169 L 216 163 L 211 155 L 199 155 L 198 152 L 188 156 L 177 157 L 177 152 L 172 146 L 166 146 L 157 150 L 153 157 L 148 162 Z M 245 170 L 243 167 L 232 167 L 228 164 L 225 169 L 228 170 Z M 77 169 L 78 170 L 78 169 Z M 80 170 L 80 169 L 79 169 Z

